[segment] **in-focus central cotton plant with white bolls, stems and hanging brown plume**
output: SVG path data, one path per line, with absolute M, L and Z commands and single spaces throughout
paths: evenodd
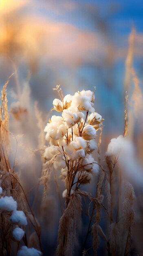
M 62 197 L 66 209 L 59 220 L 57 256 L 69 256 L 74 252 L 81 196 L 88 197 L 94 204 L 100 204 L 90 193 L 82 191 L 81 187 L 90 183 L 93 177 L 95 182 L 98 180 L 99 163 L 95 161 L 93 153 L 97 149 L 97 131 L 103 119 L 95 112 L 95 91 L 82 90 L 64 96 L 59 85 L 53 90 L 59 96 L 59 99 L 53 100 L 53 110 L 57 115 L 49 119 L 44 129 L 48 147 L 44 150 L 45 164 L 40 180 L 46 193 L 53 168 L 55 172 L 60 170 L 59 177 L 65 184 Z

